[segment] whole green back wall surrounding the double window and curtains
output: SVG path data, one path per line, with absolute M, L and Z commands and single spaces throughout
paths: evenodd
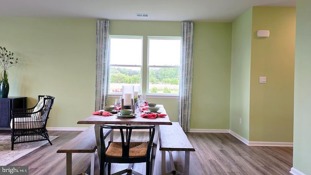
M 48 126 L 86 127 L 76 123 L 94 110 L 96 19 L 0 17 L 0 22 L 0 46 L 19 58 L 9 69 L 9 96 L 27 96 L 28 107 L 39 94 L 55 96 Z M 195 22 L 194 33 L 191 128 L 228 129 L 231 24 Z M 180 36 L 181 23 L 111 20 L 110 34 Z M 178 121 L 178 99 L 148 100 L 165 105 Z

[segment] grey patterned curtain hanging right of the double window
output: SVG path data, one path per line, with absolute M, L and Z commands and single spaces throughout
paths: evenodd
M 181 22 L 181 73 L 179 84 L 179 124 L 185 132 L 190 131 L 193 22 Z

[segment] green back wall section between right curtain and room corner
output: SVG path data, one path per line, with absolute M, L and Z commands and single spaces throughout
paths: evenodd
M 191 129 L 228 129 L 231 23 L 195 22 Z

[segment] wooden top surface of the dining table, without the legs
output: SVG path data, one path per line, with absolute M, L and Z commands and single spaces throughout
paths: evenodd
M 166 114 L 165 109 L 163 108 L 162 114 Z M 78 121 L 78 124 L 166 124 L 172 125 L 169 116 L 165 116 L 163 118 L 142 118 L 140 117 L 140 113 L 137 113 L 135 118 L 129 119 L 121 119 L 116 115 L 113 116 L 100 116 L 100 115 L 91 115 L 85 119 Z

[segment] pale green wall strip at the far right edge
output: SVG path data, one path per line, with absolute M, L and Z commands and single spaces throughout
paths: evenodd
M 293 167 L 311 175 L 311 1 L 297 0 Z

